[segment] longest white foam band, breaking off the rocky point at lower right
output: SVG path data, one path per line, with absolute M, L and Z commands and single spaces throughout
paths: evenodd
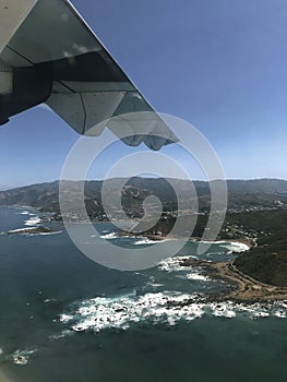
M 286 318 L 286 301 L 242 303 L 235 301 L 208 301 L 199 294 L 179 291 L 148 293 L 142 296 L 129 294 L 118 297 L 97 297 L 73 305 L 62 313 L 59 322 L 74 332 L 106 329 L 127 330 L 132 324 L 175 325 L 179 321 L 193 321 L 204 315 L 232 319 L 274 317 Z

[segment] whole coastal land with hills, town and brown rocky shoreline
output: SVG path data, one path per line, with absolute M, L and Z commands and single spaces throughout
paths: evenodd
M 172 229 L 177 219 L 177 195 L 168 179 L 150 179 L 134 177 L 127 179 L 109 179 L 109 198 L 116 198 L 121 189 L 121 204 L 130 218 L 148 218 L 153 205 L 143 208 L 147 196 L 157 196 L 163 205 L 159 220 L 144 236 L 153 240 L 165 238 Z M 174 179 L 177 190 L 183 195 L 186 205 L 184 216 L 187 225 L 190 214 L 194 214 L 196 225 L 194 238 L 201 238 L 210 216 L 211 191 L 208 182 L 194 181 L 199 211 L 190 210 L 190 181 Z M 103 181 L 85 182 L 85 205 L 89 220 L 107 222 L 108 217 L 101 203 Z M 234 289 L 224 298 L 235 299 L 270 299 L 287 297 L 287 181 L 278 179 L 227 180 L 228 210 L 218 240 L 241 241 L 250 246 L 250 250 L 237 255 L 228 263 L 206 263 L 202 266 L 216 277 L 224 277 L 234 283 Z M 76 200 L 81 182 L 69 182 L 68 198 Z M 0 192 L 0 206 L 32 206 L 41 212 L 48 212 L 51 222 L 61 223 L 59 207 L 59 182 L 33 184 Z M 150 210 L 148 210 L 150 208 Z M 122 212 L 121 212 L 122 213 Z M 120 216 L 115 211 L 115 219 Z M 81 222 L 86 216 L 65 216 L 71 222 Z M 184 219 L 184 217 L 183 217 Z M 184 220 L 182 220 L 184 227 Z M 33 227 L 14 234 L 51 234 L 53 228 Z M 125 232 L 123 232 L 125 235 Z M 183 266 L 192 266 L 188 262 Z

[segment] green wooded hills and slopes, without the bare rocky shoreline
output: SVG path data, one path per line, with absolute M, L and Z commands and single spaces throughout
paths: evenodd
M 170 182 L 169 182 L 170 181 Z M 191 225 L 196 218 L 193 236 L 202 237 L 211 206 L 210 186 L 194 181 L 196 195 L 190 192 L 188 180 L 165 180 L 154 178 L 110 179 L 106 181 L 105 198 L 112 201 L 121 199 L 125 214 L 141 218 L 153 213 L 143 208 L 147 196 L 157 196 L 163 205 L 163 214 L 156 225 L 148 229 L 150 235 L 167 235 L 177 219 L 178 201 L 175 190 L 183 200 L 184 216 L 181 227 Z M 69 201 L 77 200 L 81 182 L 65 182 Z M 174 184 L 174 188 L 170 186 Z M 122 187 L 122 184 L 124 184 Z M 236 267 L 263 283 L 276 286 L 287 285 L 287 181 L 276 179 L 228 180 L 228 213 L 219 234 L 220 239 L 253 240 L 258 247 L 237 258 Z M 85 182 L 85 205 L 92 220 L 105 220 L 107 215 L 101 201 L 103 181 Z M 120 192 L 120 194 L 119 194 Z M 191 207 L 199 201 L 199 212 Z M 61 220 L 59 206 L 59 182 L 33 184 L 0 192 L 0 205 L 33 206 L 53 212 L 55 219 Z M 147 206 L 148 207 L 148 206 Z M 113 210 L 115 217 L 119 211 Z M 71 219 L 81 220 L 83 216 L 71 212 Z

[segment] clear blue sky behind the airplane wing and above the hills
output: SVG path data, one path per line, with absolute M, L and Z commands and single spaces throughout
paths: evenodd
M 287 179 L 287 2 L 285 0 L 72 0 L 96 35 L 159 112 L 199 129 L 226 178 Z M 0 189 L 59 179 L 79 139 L 37 107 L 0 128 Z M 142 148 L 142 146 L 140 146 Z M 100 179 L 120 157 L 97 160 Z M 196 165 L 174 156 L 193 179 Z

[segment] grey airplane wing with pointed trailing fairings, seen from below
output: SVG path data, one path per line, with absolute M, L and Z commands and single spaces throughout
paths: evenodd
M 70 1 L 1 0 L 0 124 L 41 103 L 80 134 L 98 123 L 99 134 L 116 116 L 154 112 L 145 134 L 127 121 L 122 141 L 152 150 L 178 141 Z M 117 134 L 117 123 L 107 127 Z

